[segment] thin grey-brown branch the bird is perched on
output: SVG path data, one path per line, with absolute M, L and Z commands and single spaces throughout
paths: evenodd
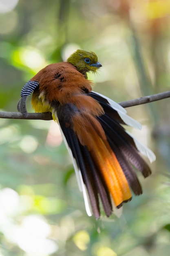
M 170 97 L 170 91 L 161 92 L 158 94 L 153 94 L 150 96 L 141 97 L 138 99 L 132 99 L 130 101 L 122 101 L 119 104 L 123 108 L 128 108 L 132 106 L 137 106 L 141 104 L 146 104 L 152 101 L 159 101 L 161 99 L 166 99 Z M 28 117 L 23 117 L 19 112 L 4 112 L 0 111 L 0 118 L 8 118 L 8 119 L 41 119 L 41 120 L 52 120 L 52 115 L 49 112 L 46 113 L 29 113 Z

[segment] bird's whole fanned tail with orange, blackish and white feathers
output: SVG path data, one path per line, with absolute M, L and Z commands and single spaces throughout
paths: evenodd
M 139 145 L 136 145 L 136 141 L 119 124 L 125 123 L 124 120 L 128 119 L 125 112 L 122 112 L 120 117 L 121 109 L 113 109 L 101 95 L 91 92 L 90 96 L 97 98 L 104 108 L 104 115 L 94 117 L 88 113 L 80 113 L 75 107 L 67 105 L 60 108 L 57 106 L 56 114 L 73 157 L 79 184 L 82 191 L 85 191 L 85 184 L 92 212 L 95 218 L 99 218 L 99 198 L 106 216 L 110 216 L 113 211 L 112 199 L 119 208 L 124 202 L 131 200 L 130 189 L 135 195 L 142 193 L 135 170 L 141 171 L 144 177 L 150 175 L 151 171 L 139 155 Z M 69 108 L 69 111 L 66 108 Z M 130 117 L 128 122 L 138 126 Z M 152 151 L 142 144 L 140 148 L 150 159 L 154 159 Z M 90 215 L 87 202 L 86 209 Z

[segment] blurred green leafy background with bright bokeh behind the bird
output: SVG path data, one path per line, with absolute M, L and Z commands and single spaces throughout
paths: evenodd
M 97 54 L 93 90 L 117 102 L 170 90 L 170 0 L 0 0 L 1 111 L 17 111 L 24 84 L 76 49 Z M 143 195 L 99 220 L 86 215 L 57 124 L 0 119 L 0 256 L 169 255 L 170 100 L 127 111 L 157 160 L 139 174 Z

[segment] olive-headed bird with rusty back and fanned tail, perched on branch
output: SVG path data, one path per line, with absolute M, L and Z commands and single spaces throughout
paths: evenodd
M 52 113 L 73 159 L 86 211 L 95 218 L 100 216 L 99 198 L 110 216 L 113 205 L 120 208 L 131 200 L 131 190 L 142 193 L 135 171 L 144 177 L 151 171 L 139 153 L 155 160 L 154 153 L 121 126 L 141 125 L 118 103 L 92 91 L 87 72 L 96 73 L 99 67 L 94 52 L 77 50 L 66 62 L 50 64 L 33 76 L 22 88 L 17 106 L 27 117 L 26 98 L 33 92 L 35 112 Z

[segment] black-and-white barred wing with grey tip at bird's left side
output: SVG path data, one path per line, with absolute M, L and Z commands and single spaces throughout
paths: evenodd
M 28 116 L 28 112 L 26 110 L 26 99 L 27 97 L 39 86 L 38 81 L 28 81 L 21 90 L 21 99 L 18 102 L 17 109 L 22 113 L 24 117 Z

